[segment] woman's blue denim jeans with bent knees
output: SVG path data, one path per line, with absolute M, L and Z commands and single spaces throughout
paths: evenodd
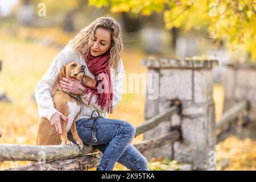
M 92 145 L 103 153 L 98 171 L 111 171 L 116 162 L 133 171 L 148 171 L 147 159 L 131 144 L 135 127 L 118 119 L 98 118 L 96 139 L 92 140 L 92 118 L 76 121 L 76 129 L 84 144 Z M 87 126 L 87 127 L 86 127 Z

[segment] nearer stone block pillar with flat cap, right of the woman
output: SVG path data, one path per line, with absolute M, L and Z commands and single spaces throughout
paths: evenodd
M 195 170 L 214 169 L 215 165 L 209 163 L 216 143 L 212 67 L 218 62 L 162 58 L 143 59 L 142 63 L 148 67 L 148 73 L 159 74 L 159 97 L 149 100 L 146 94 L 145 121 L 170 107 L 175 98 L 182 104 L 181 115 L 147 131 L 144 139 L 160 137 L 177 125 L 181 126 L 183 139 L 145 152 L 146 158 L 162 156 L 191 163 Z M 209 155 L 210 151 L 213 152 Z

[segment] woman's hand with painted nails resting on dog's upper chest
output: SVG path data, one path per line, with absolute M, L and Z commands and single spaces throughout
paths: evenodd
M 81 95 L 85 90 L 85 87 L 75 78 L 61 78 L 59 85 L 60 89 L 76 95 Z

